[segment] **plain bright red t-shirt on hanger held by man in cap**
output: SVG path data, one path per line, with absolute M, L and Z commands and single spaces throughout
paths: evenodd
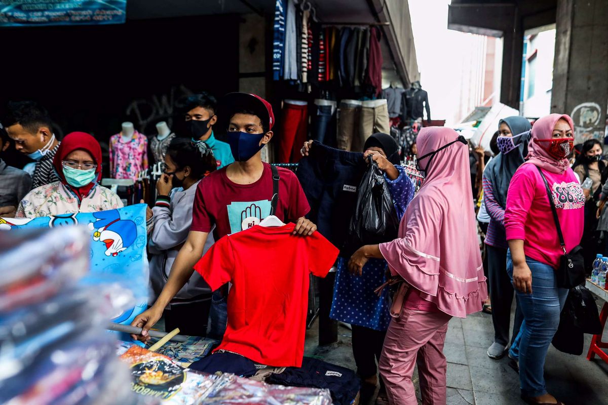
M 309 274 L 325 277 L 338 250 L 320 233 L 297 236 L 294 228 L 255 225 L 225 236 L 195 265 L 212 290 L 233 284 L 216 350 L 267 366 L 302 366 Z

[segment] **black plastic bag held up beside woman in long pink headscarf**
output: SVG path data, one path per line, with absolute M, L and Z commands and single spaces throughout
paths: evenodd
M 350 245 L 390 242 L 397 237 L 399 219 L 384 173 L 370 157 L 370 166 L 361 179 L 357 203 L 350 221 Z

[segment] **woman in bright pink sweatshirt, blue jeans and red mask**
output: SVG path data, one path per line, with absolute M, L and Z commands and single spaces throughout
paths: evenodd
M 558 213 L 565 250 L 571 251 L 581 241 L 586 200 L 567 158 L 574 143 L 573 128 L 572 119 L 562 114 L 534 123 L 528 160 L 513 175 L 506 197 L 505 231 L 510 249 L 506 270 L 523 313 L 509 357 L 519 359 L 520 388 L 528 404 L 561 404 L 547 393 L 543 369 L 568 290 L 556 283 L 555 269 L 564 250 L 543 177 Z

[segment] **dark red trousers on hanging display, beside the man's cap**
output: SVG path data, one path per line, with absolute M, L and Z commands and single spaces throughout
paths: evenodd
M 295 163 L 308 136 L 308 105 L 283 103 L 283 120 L 278 134 L 278 163 Z

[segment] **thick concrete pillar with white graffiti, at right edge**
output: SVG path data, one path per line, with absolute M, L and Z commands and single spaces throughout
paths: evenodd
M 558 0 L 551 112 L 575 123 L 575 143 L 604 138 L 608 107 L 608 1 Z

